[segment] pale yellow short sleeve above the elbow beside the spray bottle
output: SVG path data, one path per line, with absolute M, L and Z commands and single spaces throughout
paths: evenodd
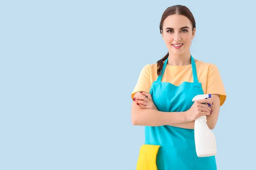
M 221 102 L 220 105 L 223 105 L 226 100 L 227 95 L 221 79 L 221 75 L 216 65 L 212 65 L 209 68 L 206 94 L 219 94 Z

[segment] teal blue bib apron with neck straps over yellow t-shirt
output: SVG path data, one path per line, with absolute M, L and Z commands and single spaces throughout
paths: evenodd
M 204 94 L 198 82 L 195 60 L 191 56 L 194 82 L 183 82 L 179 86 L 161 82 L 167 62 L 168 58 L 163 64 L 162 74 L 151 85 L 150 94 L 154 104 L 159 111 L 187 111 L 193 105 L 192 98 Z M 169 125 L 145 126 L 145 144 L 160 145 L 156 158 L 157 170 L 217 170 L 215 156 L 197 156 L 194 129 Z

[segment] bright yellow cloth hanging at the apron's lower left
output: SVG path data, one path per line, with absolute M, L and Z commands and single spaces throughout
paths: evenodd
M 140 147 L 140 155 L 136 170 L 157 170 L 157 152 L 160 145 L 143 144 Z

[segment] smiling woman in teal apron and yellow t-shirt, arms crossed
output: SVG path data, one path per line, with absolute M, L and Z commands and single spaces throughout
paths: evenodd
M 190 54 L 195 19 L 186 6 L 164 11 L 160 33 L 169 51 L 144 66 L 131 94 L 132 123 L 145 126 L 137 170 L 216 170 L 215 156 L 196 155 L 194 125 L 202 115 L 210 129 L 216 125 L 226 100 L 218 68 Z M 192 102 L 198 94 L 212 97 Z

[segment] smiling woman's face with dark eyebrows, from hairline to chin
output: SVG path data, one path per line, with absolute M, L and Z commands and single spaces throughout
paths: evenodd
M 184 15 L 170 15 L 163 22 L 162 37 L 169 53 L 181 55 L 189 52 L 194 36 L 195 28 L 192 31 L 191 21 Z

